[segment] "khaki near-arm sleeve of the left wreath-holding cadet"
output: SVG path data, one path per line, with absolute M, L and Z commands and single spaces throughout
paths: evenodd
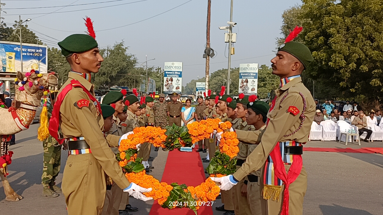
M 129 186 L 130 182 L 126 179 L 122 168 L 118 165 L 115 154 L 109 148 L 95 115 L 88 107 L 79 109 L 74 106 L 74 103 L 80 99 L 89 98 L 83 91 L 80 93 L 68 93 L 67 96 L 65 96 L 60 111 L 63 115 L 69 116 L 68 118 L 70 118 L 70 122 L 74 128 L 83 135 L 92 150 L 92 155 L 97 159 L 98 163 L 100 163 L 105 173 L 112 178 L 121 189 L 125 189 Z M 93 104 L 90 103 L 90 105 Z

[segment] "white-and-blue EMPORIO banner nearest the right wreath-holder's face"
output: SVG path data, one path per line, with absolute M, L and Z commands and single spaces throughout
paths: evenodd
M 258 64 L 239 64 L 238 93 L 257 94 Z

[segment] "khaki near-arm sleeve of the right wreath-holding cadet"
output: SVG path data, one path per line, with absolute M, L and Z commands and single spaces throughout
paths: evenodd
M 290 93 L 286 96 L 285 100 L 280 104 L 275 117 L 268 122 L 267 129 L 261 137 L 261 142 L 250 153 L 241 168 L 233 174 L 234 178 L 241 181 L 249 173 L 260 169 L 265 164 L 275 145 L 277 145 L 277 142 L 295 123 L 300 121 L 300 114 L 294 116 L 294 114 L 287 112 L 289 106 L 295 106 L 300 111 L 303 110 L 303 100 L 300 94 Z

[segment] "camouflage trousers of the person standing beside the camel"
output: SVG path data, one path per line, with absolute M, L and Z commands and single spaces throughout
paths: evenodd
M 61 145 L 49 136 L 43 141 L 44 160 L 43 175 L 41 176 L 41 184 L 49 184 L 56 180 L 60 172 L 61 165 Z

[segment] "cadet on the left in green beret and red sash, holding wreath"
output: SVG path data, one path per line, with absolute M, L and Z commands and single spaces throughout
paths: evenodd
M 100 104 L 90 83 L 91 73 L 97 73 L 103 61 L 97 42 L 92 36 L 74 34 L 58 44 L 71 71 L 57 96 L 49 132 L 59 143 L 64 138 L 69 140 L 69 156 L 62 179 L 68 214 L 101 213 L 106 192 L 105 173 L 133 197 L 151 199 L 141 193 L 147 189 L 129 183 L 109 148 L 118 147 L 120 137 L 104 138 Z M 57 133 L 59 128 L 62 134 Z

